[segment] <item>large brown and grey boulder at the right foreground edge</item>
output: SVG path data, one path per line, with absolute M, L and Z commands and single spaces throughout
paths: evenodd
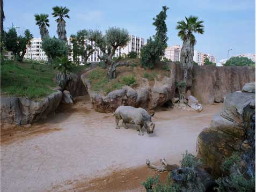
M 251 172 L 251 169 L 255 170 L 254 114 L 255 93 L 241 91 L 231 93 L 224 101 L 222 112 L 216 114 L 211 120 L 210 126 L 204 128 L 200 133 L 196 147 L 198 158 L 203 160 L 211 174 L 220 176 L 220 165 L 224 157 L 231 156 L 233 152 L 239 153 L 244 158 L 245 169 L 248 173 Z M 253 121 L 254 126 L 251 126 Z M 254 156 L 246 155 L 251 153 Z M 246 160 L 248 156 L 254 158 Z M 249 166 L 252 165 L 251 161 L 254 162 L 254 167 Z

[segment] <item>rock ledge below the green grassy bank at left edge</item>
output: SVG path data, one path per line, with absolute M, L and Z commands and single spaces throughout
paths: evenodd
M 1 97 L 1 121 L 18 125 L 33 123 L 54 112 L 61 99 L 61 91 L 38 101 L 21 97 Z

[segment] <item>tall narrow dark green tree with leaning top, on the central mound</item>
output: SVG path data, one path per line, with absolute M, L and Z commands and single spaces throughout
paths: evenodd
M 164 55 L 164 50 L 167 47 L 167 26 L 165 20 L 167 18 L 167 6 L 163 6 L 163 10 L 153 18 L 153 25 L 156 26 L 156 34 L 153 38 L 149 38 L 147 45 L 141 50 L 141 62 L 143 68 L 153 68 L 155 62 Z

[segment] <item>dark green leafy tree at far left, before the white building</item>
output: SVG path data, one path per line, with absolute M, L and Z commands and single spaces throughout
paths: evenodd
M 27 51 L 27 45 L 30 45 L 33 35 L 30 30 L 26 29 L 24 36 L 17 35 L 15 28 L 10 28 L 4 35 L 4 45 L 7 51 L 12 51 L 14 58 L 23 61 L 23 57 Z

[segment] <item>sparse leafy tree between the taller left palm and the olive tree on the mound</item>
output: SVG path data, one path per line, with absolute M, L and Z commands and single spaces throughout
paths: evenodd
M 76 35 L 71 35 L 71 42 L 73 43 L 73 47 L 75 45 L 75 52 L 76 52 L 75 56 L 81 56 L 82 61 L 84 62 L 88 60 L 88 58 L 91 56 L 91 54 L 94 51 L 93 46 L 89 45 L 86 42 L 86 39 L 88 38 L 89 38 L 89 32 L 85 29 L 78 31 Z

